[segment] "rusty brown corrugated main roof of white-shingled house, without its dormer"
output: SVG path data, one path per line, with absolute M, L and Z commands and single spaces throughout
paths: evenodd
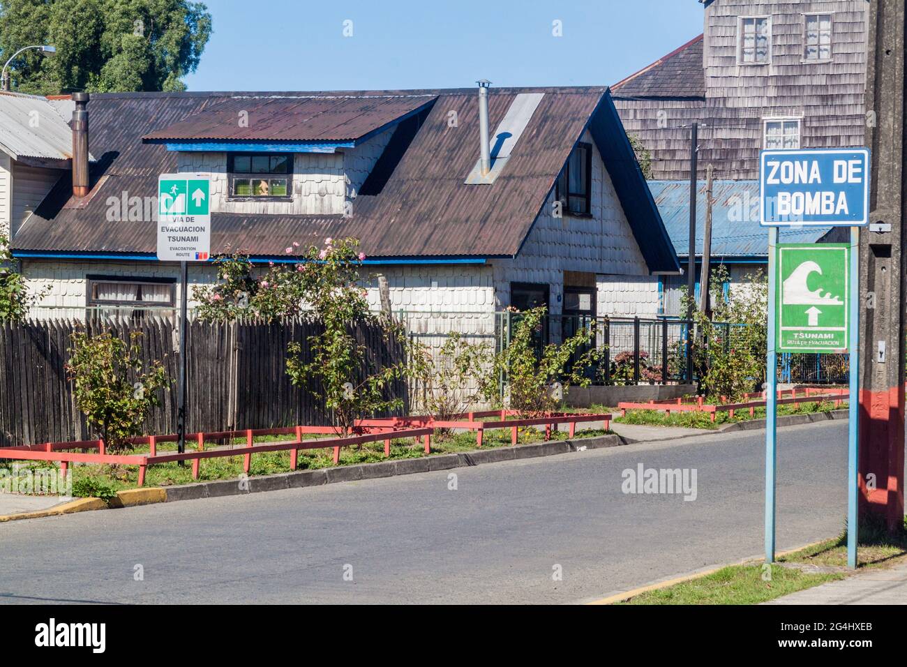
M 575 142 L 589 126 L 650 269 L 677 270 L 677 255 L 649 200 L 607 89 L 494 89 L 489 94 L 492 126 L 502 119 L 517 94 L 527 92 L 545 95 L 513 147 L 506 170 L 493 184 L 463 182 L 479 146 L 475 91 L 435 91 L 431 111 L 412 117 L 417 123 L 396 126 L 379 162 L 387 156 L 392 159 L 375 170 L 381 173 L 376 179 L 380 183 L 364 186 L 369 194 L 356 198 L 353 216 L 214 213 L 212 253 L 232 248 L 259 256 L 282 255 L 294 240 L 305 243 L 320 242 L 326 236 L 355 236 L 373 257 L 512 257 L 532 229 Z M 102 158 L 93 169 L 92 182 L 98 183 L 102 175 L 107 178 L 98 184 L 91 201 L 73 210 L 65 208 L 71 187 L 69 176 L 64 176 L 17 232 L 14 248 L 155 252 L 154 225 L 108 221 L 105 201 L 120 197 L 123 191 L 130 197 L 153 196 L 158 174 L 175 171 L 177 156 L 160 144 L 142 143 L 141 137 L 178 123 L 229 94 L 93 95 L 89 138 L 92 151 Z M 248 97 L 250 93 L 241 94 Z M 451 111 L 457 113 L 456 128 L 448 125 Z M 396 148 L 391 151 L 390 146 Z M 628 168 L 630 164 L 633 168 Z

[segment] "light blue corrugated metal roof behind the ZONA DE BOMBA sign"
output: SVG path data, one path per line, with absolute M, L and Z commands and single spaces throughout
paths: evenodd
M 661 219 L 681 257 L 689 254 L 689 181 L 649 181 Z M 697 199 L 697 257 L 702 255 L 706 229 L 706 181 L 699 181 Z M 768 256 L 768 231 L 759 225 L 759 181 L 714 181 L 712 197 L 712 256 Z M 783 243 L 814 243 L 831 227 L 782 228 Z

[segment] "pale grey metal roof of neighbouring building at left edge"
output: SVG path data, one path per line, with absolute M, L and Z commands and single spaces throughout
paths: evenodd
M 22 157 L 69 160 L 73 131 L 45 97 L 0 93 L 0 148 Z

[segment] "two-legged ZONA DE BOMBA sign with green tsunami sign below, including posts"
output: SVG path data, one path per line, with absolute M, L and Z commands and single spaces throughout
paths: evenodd
M 859 227 L 869 221 L 869 152 L 763 151 L 760 223 L 768 227 L 766 563 L 775 561 L 777 353 L 850 353 L 847 564 L 857 564 Z M 779 243 L 779 227 L 850 227 L 850 243 Z

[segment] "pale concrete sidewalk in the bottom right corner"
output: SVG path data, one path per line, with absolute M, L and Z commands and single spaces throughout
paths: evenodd
M 907 604 L 907 563 L 873 568 L 763 604 Z

